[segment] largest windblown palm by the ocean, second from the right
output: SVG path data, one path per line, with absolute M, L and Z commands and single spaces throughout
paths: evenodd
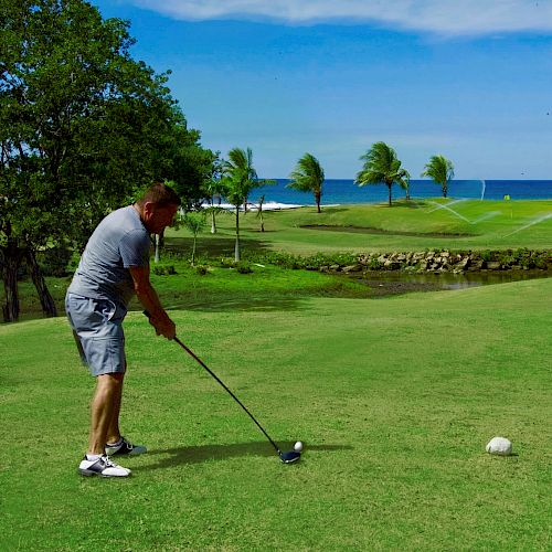
M 401 161 L 395 150 L 385 142 L 378 141 L 360 159 L 364 160 L 364 167 L 357 174 L 355 183 L 358 185 L 385 184 L 389 189 L 389 205 L 391 206 L 392 185 L 396 183 L 406 189 L 411 178 L 406 169 L 401 169 Z

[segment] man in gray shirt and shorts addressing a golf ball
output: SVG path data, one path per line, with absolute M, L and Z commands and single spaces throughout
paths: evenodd
M 127 477 L 130 470 L 109 456 L 136 455 L 146 447 L 120 434 L 119 410 L 126 371 L 123 320 L 136 294 L 158 336 L 173 339 L 174 322 L 149 279 L 150 234 L 173 223 L 180 198 L 157 183 L 132 205 L 108 214 L 92 234 L 65 298 L 67 318 L 83 361 L 96 378 L 91 406 L 88 452 L 83 476 Z

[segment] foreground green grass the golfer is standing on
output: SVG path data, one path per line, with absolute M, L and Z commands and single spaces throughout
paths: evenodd
M 0 326 L 0 548 L 550 550 L 551 296 L 541 279 L 173 311 L 276 440 L 306 443 L 293 466 L 131 312 L 123 424 L 150 452 L 128 480 L 76 475 L 93 382 L 65 320 Z M 516 456 L 485 453 L 496 435 Z

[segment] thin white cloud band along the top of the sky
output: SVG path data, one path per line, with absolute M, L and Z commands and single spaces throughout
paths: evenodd
M 275 20 L 287 24 L 371 22 L 445 35 L 552 31 L 551 0 L 126 0 L 166 15 Z

